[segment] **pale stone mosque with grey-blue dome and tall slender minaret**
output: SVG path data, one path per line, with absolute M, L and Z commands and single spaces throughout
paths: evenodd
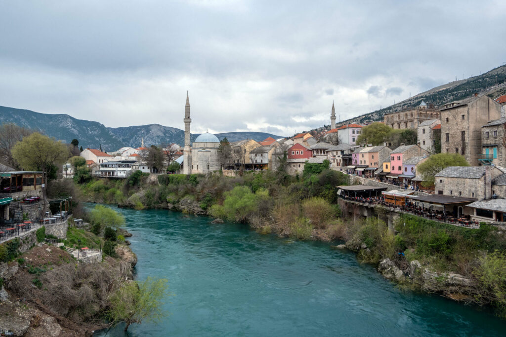
M 202 133 L 190 147 L 190 100 L 186 94 L 185 106 L 185 148 L 183 152 L 183 173 L 207 173 L 220 170 L 218 148 L 220 139 L 212 133 Z M 187 165 L 188 163 L 188 165 Z

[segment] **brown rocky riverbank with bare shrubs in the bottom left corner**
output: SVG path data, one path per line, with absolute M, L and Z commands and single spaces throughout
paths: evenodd
M 137 257 L 126 245 L 117 258 L 81 263 L 59 247 L 38 244 L 0 264 L 0 331 L 14 336 L 91 336 L 107 327 L 109 296 L 132 279 Z

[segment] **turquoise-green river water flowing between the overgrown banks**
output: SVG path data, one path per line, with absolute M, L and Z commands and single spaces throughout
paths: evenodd
M 499 336 L 506 321 L 439 296 L 403 293 L 355 254 L 166 210 L 116 209 L 139 262 L 168 279 L 159 324 L 129 336 Z M 123 336 L 118 326 L 99 336 Z

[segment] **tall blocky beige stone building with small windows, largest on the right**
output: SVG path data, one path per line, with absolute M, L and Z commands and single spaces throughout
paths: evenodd
M 479 165 L 482 126 L 500 118 L 500 105 L 486 95 L 445 104 L 441 109 L 441 152 L 458 153 Z

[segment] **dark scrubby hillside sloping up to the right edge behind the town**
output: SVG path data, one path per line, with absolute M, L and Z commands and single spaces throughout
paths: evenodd
M 497 98 L 506 94 L 506 65 L 494 68 L 479 76 L 473 76 L 463 80 L 443 84 L 427 91 L 418 93 L 413 97 L 371 113 L 363 114 L 342 121 L 339 125 L 348 123 L 365 123 L 383 121 L 386 113 L 402 111 L 418 106 L 421 101 L 441 107 L 443 104 L 465 99 L 475 92 L 484 93 L 491 98 Z

